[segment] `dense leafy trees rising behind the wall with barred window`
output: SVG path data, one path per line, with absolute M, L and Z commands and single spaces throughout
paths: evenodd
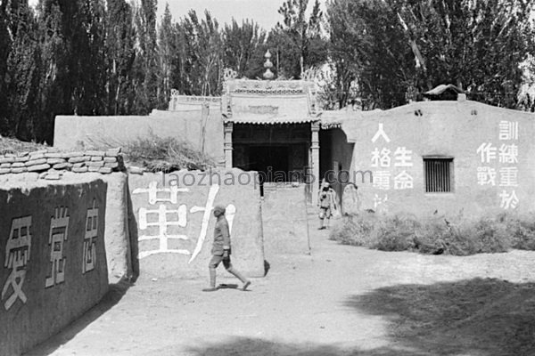
M 474 100 L 514 108 L 520 65 L 534 48 L 532 10 L 521 0 L 333 0 L 331 53 L 342 78 L 358 80 L 369 109 L 449 83 Z

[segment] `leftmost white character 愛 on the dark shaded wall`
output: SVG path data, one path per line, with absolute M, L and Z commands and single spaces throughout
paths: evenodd
M 12 270 L 2 288 L 2 300 L 4 308 L 8 311 L 12 305 L 20 299 L 26 303 L 28 298 L 22 291 L 24 279 L 26 279 L 26 266 L 29 263 L 31 253 L 31 215 L 12 220 L 9 239 L 5 244 L 4 268 Z

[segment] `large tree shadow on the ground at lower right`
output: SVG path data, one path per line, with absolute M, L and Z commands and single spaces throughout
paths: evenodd
M 351 296 L 345 305 L 359 313 L 385 318 L 389 322 L 389 347 L 358 350 L 237 337 L 222 344 L 190 347 L 187 354 L 535 355 L 535 283 L 469 279 L 433 285 L 399 285 Z

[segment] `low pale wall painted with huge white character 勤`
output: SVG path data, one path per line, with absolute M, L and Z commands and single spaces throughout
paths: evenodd
M 207 278 L 216 223 L 212 208 L 223 205 L 231 225 L 233 265 L 247 276 L 262 277 L 264 250 L 256 182 L 256 173 L 239 169 L 130 174 L 130 232 L 136 233 L 133 251 L 139 273 L 154 278 Z M 221 266 L 218 273 L 226 271 Z

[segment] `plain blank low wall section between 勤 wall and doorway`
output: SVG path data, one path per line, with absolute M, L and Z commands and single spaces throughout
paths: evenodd
M 262 225 L 266 256 L 310 254 L 305 184 L 265 183 Z

